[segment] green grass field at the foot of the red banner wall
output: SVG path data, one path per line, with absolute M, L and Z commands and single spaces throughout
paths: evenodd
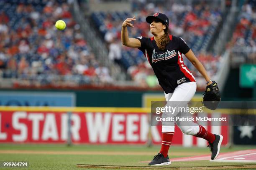
M 151 160 L 159 151 L 160 146 L 148 148 L 137 145 L 0 145 L 0 161 L 28 161 L 32 170 L 72 170 L 77 164 L 90 165 L 122 165 L 122 166 L 147 166 L 148 163 L 140 161 Z M 221 148 L 221 153 L 236 150 L 255 149 L 255 147 L 238 147 L 231 149 Z M 209 148 L 184 148 L 171 146 L 169 158 L 187 157 L 209 154 Z M 168 169 L 177 167 L 206 167 L 226 165 L 256 165 L 256 163 L 218 163 L 204 161 L 172 162 L 166 166 Z M 176 167 L 176 168 L 175 168 Z M 4 168 L 4 170 L 13 168 Z M 26 168 L 24 168 L 26 169 Z M 103 170 L 104 168 L 82 168 Z M 145 168 L 146 169 L 146 168 Z M 155 168 L 157 169 L 157 168 Z M 235 169 L 235 168 L 234 168 Z

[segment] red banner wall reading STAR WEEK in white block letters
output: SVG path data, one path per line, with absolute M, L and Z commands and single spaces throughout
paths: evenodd
M 0 143 L 66 143 L 68 114 L 62 110 L 0 108 Z M 138 108 L 128 109 L 126 112 L 125 108 L 108 108 L 106 112 L 102 110 L 106 109 L 72 110 L 70 129 L 72 143 L 146 144 L 148 138 L 151 138 L 155 144 L 161 143 L 161 126 L 150 127 L 149 114 L 145 110 Z M 206 128 L 213 133 L 222 134 L 223 145 L 228 143 L 228 126 L 211 126 L 209 122 Z M 207 142 L 184 135 L 178 127 L 175 127 L 172 144 L 206 146 Z

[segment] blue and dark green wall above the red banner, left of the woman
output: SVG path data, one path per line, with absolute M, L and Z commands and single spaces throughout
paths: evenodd
M 132 90 L 0 90 L 0 105 L 78 106 L 78 107 L 142 107 L 143 95 L 159 91 Z M 13 94 L 11 98 L 10 95 Z M 23 97 L 22 97 L 23 94 Z M 37 95 L 36 95 L 37 94 Z M 31 98 L 31 95 L 35 96 Z M 48 95 L 48 97 L 46 97 Z M 67 99 L 59 96 L 66 95 Z M 67 96 L 68 95 L 68 96 Z M 18 97 L 19 96 L 19 97 Z M 26 97 L 26 96 L 30 96 Z M 45 96 L 46 98 L 43 98 Z M 54 100 L 56 99 L 56 100 Z M 62 101 L 62 102 L 61 102 Z

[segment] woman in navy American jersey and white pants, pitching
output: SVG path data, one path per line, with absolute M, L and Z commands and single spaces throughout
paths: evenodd
M 207 75 L 202 63 L 195 57 L 184 40 L 180 37 L 168 34 L 169 19 L 166 15 L 155 13 L 153 16 L 146 18 L 146 21 L 150 24 L 150 32 L 154 35 L 151 38 L 130 38 L 128 36 L 127 27 L 133 27 L 131 22 L 134 20 L 136 20 L 135 17 L 127 18 L 123 22 L 121 32 L 123 45 L 141 50 L 151 64 L 159 80 L 159 84 L 165 92 L 166 101 L 170 103 L 182 101 L 181 105 L 185 107 L 195 95 L 197 85 L 194 76 L 183 62 L 182 54 L 184 54 L 202 74 L 207 85 L 210 85 L 213 80 Z M 180 113 L 176 115 L 178 114 Z M 168 113 L 163 113 L 162 117 L 163 116 L 168 116 Z M 214 160 L 217 158 L 223 140 L 222 135 L 212 134 L 203 126 L 194 122 L 190 122 L 189 125 L 182 125 L 180 122 L 176 123 L 184 134 L 207 140 L 212 152 L 211 159 Z M 168 150 L 172 143 L 173 135 L 174 122 L 162 121 L 161 150 L 148 165 L 171 164 L 168 157 Z

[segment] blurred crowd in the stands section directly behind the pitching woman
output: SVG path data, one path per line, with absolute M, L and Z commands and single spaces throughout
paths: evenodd
M 145 5 L 146 4 L 146 5 Z M 146 0 L 132 1 L 133 13 L 93 13 L 92 20 L 109 46 L 109 58 L 121 65 L 127 73 L 143 86 L 158 85 L 152 69 L 148 67 L 146 58 L 138 49 L 128 48 L 120 41 L 121 25 L 126 18 L 136 17 L 134 28 L 128 28 L 130 37 L 151 37 L 146 17 L 156 12 L 164 13 L 170 19 L 170 34 L 182 37 L 197 57 L 207 68 L 210 76 L 218 70 L 219 57 L 205 53 L 222 16 L 218 7 L 211 7 L 204 2 L 197 5 L 183 5 L 178 3 L 146 3 Z M 184 57 L 185 58 L 185 57 Z M 196 79 L 201 75 L 188 60 L 184 60 L 189 69 L 194 72 Z M 151 81 L 149 81 L 151 80 Z M 154 81 L 156 80 L 156 81 Z M 155 83 L 152 83 L 155 82 Z M 203 82 L 203 85 L 205 83 Z

